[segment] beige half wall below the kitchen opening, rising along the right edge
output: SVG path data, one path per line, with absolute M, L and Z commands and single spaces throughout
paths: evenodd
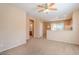
M 73 12 L 73 30 L 72 31 L 48 31 L 47 39 L 68 43 L 79 44 L 79 11 Z

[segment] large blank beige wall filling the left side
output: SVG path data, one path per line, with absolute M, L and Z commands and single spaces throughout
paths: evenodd
M 0 52 L 26 43 L 26 25 L 24 11 L 0 4 Z

